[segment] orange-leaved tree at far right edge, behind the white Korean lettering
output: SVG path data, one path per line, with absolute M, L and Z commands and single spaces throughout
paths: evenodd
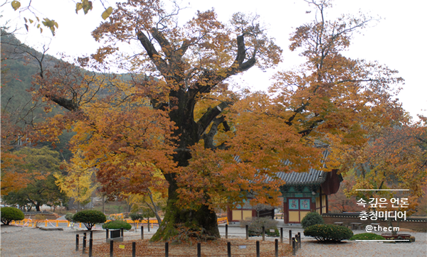
M 378 128 L 369 141 L 348 155 L 352 167 L 343 167 L 343 172 L 354 170 L 357 175 L 352 190 L 347 195 L 371 202 L 385 198 L 389 204 L 370 207 L 365 210 L 406 213 L 406 217 L 416 211 L 423 199 L 423 187 L 427 185 L 427 126 L 422 121 L 417 124 Z M 355 160 L 354 160 L 355 159 Z M 391 199 L 406 198 L 407 204 L 392 204 Z M 393 200 L 395 201 L 395 200 Z M 401 217 L 401 215 L 399 215 Z M 387 219 L 389 226 L 393 219 Z M 394 219 L 399 221 L 401 219 Z M 396 232 L 394 232 L 396 234 Z

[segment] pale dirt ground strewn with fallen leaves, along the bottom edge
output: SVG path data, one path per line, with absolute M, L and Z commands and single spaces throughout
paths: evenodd
M 64 228 L 63 231 L 43 231 L 21 226 L 1 226 L 1 256 L 4 257 L 78 257 L 82 253 L 83 229 Z M 149 243 L 147 239 L 154 233 L 144 232 L 144 239 L 135 231 L 125 232 L 124 242 L 115 242 L 115 257 L 132 256 L 132 241 L 136 242 L 136 256 L 165 256 L 164 243 Z M 79 251 L 75 251 L 75 235 L 80 235 Z M 344 241 L 340 244 L 319 244 L 311 238 L 302 238 L 302 249 L 296 256 L 427 256 L 427 234 L 411 231 L 416 242 L 411 244 L 385 244 L 383 242 Z M 105 243 L 105 231 L 93 232 L 93 256 L 109 257 L 110 244 Z M 256 256 L 255 241 L 260 241 L 260 256 L 274 256 L 274 239 L 261 241 L 260 237 L 246 241 L 241 236 L 231 236 L 215 242 L 201 244 L 201 256 L 227 256 L 227 241 L 231 241 L 231 253 L 236 256 Z M 291 249 L 285 240 L 279 244 L 279 256 L 291 256 Z M 87 249 L 88 250 L 88 249 Z M 169 245 L 169 256 L 196 256 L 196 242 Z

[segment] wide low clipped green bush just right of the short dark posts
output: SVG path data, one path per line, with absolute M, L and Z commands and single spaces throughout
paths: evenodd
M 342 240 L 351 239 L 353 236 L 353 231 L 346 226 L 316 224 L 304 229 L 304 235 L 312 236 L 317 241 L 339 242 Z

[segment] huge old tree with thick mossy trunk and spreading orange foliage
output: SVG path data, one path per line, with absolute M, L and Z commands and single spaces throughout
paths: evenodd
M 389 88 L 399 82 L 395 72 L 340 53 L 368 19 L 325 21 L 327 4 L 314 4 L 322 19 L 291 38 L 291 49 L 303 48 L 307 62 L 300 73 L 277 76 L 274 99 L 226 84 L 280 60 L 257 17 L 236 13 L 224 24 L 213 10 L 199 11 L 181 25 L 174 3 L 117 4 L 110 21 L 93 31 L 105 43 L 93 59 L 117 65 L 117 55 L 110 57 L 117 42 L 136 41 L 140 51 L 120 63 L 132 74 L 90 75 L 71 66 L 41 74 L 41 96 L 69 110 L 45 133 L 73 127 L 75 153 L 85 153 L 107 194 L 166 185 L 166 214 L 153 240 L 181 232 L 217 238 L 215 204 L 232 206 L 249 195 L 253 204 L 275 204 L 277 172 L 325 168 L 316 146 L 329 147 L 327 168 L 337 168 L 343 153 L 366 141 L 370 126 L 401 114 Z M 90 62 L 80 58 L 81 65 Z M 153 176 L 157 170 L 164 183 Z

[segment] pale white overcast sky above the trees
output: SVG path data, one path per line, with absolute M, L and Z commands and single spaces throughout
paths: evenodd
M 22 6 L 28 4 L 22 0 Z M 97 44 L 90 36 L 102 18 L 104 11 L 99 1 L 93 0 L 94 9 L 87 15 L 83 11 L 75 13 L 75 1 L 70 0 L 33 0 L 31 6 L 37 15 L 48 17 L 58 22 L 59 28 L 55 37 L 48 31 L 39 33 L 36 28 L 19 30 L 17 37 L 35 48 L 49 44 L 51 55 L 66 53 L 79 56 L 94 53 Z M 109 0 L 114 7 L 114 0 Z M 268 35 L 276 39 L 283 48 L 283 62 L 275 70 L 261 72 L 251 69 L 235 78 L 235 82 L 251 89 L 267 89 L 271 84 L 270 77 L 278 70 L 289 70 L 302 61 L 297 53 L 288 50 L 290 33 L 303 23 L 315 18 L 315 9 L 303 0 L 216 0 L 216 1 L 182 1 L 189 6 L 182 12 L 191 16 L 197 10 L 205 11 L 214 8 L 220 21 L 228 21 L 231 15 L 241 11 L 256 13 L 268 28 Z M 106 4 L 107 7 L 107 4 Z M 345 55 L 369 61 L 378 61 L 391 69 L 399 70 L 399 75 L 405 79 L 404 89 L 399 99 L 404 109 L 411 116 L 427 115 L 427 50 L 426 50 L 426 18 L 427 1 L 424 0 L 335 0 L 333 7 L 327 11 L 327 19 L 333 19 L 341 14 L 357 14 L 359 11 L 374 17 L 381 17 L 376 23 L 371 23 L 360 34 L 354 35 L 352 45 Z M 311 11 L 310 13 L 307 13 Z M 9 21 L 11 28 L 23 27 L 23 17 L 31 18 L 31 13 L 13 11 L 10 4 L 1 7 L 1 23 Z M 422 111 L 423 110 L 423 111 Z

